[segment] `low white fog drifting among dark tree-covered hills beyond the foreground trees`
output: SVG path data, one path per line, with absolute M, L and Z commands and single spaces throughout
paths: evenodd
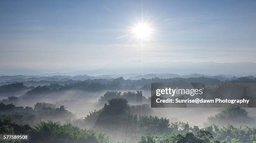
M 52 77 L 48 79 L 52 79 Z M 176 125 L 182 131 L 186 123 L 194 128 L 205 128 L 212 125 L 222 127 L 229 123 L 237 127 L 254 127 L 256 125 L 254 108 L 151 108 L 150 83 L 153 82 L 223 83 L 244 81 L 245 79 L 251 82 L 255 81 L 253 76 L 232 77 L 226 81 L 213 77 L 174 77 L 169 79 L 156 77 L 134 80 L 119 77 L 116 79 L 63 81 L 5 81 L 0 86 L 0 98 L 1 106 L 7 109 L 3 108 L 1 115 L 14 116 L 19 123 L 28 123 L 30 126 L 36 126 L 41 121 L 49 120 L 59 121 L 62 124 L 71 123 L 82 129 L 93 129 L 106 133 L 116 141 L 123 141 L 127 138 L 131 142 L 139 139 L 138 136 L 128 138 L 132 135 L 130 131 L 133 130 L 133 126 L 141 126 L 140 129 L 136 128 L 138 133 L 143 136 L 147 135 L 145 131 L 159 135 L 165 133 L 165 130 L 163 132 L 161 129 L 154 131 L 150 129 L 151 127 L 144 130 L 143 128 L 146 127 L 143 127 L 142 124 L 137 125 L 137 119 L 141 122 L 154 120 L 167 123 L 168 121 L 169 125 L 167 123 L 165 126 L 170 127 L 166 129 L 166 133 Z M 230 112 L 230 115 L 226 114 L 227 111 Z M 127 119 L 118 119 L 121 117 Z M 105 118 L 113 119 L 108 121 Z M 118 120 L 115 121 L 116 119 Z M 135 122 L 131 122 L 131 126 L 125 126 L 126 120 L 128 123 L 129 120 Z

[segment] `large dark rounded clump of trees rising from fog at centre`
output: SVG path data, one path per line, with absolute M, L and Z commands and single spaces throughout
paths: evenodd
M 72 123 L 77 126 L 92 124 L 95 129 L 103 130 L 114 138 L 123 136 L 129 138 L 128 141 L 136 141 L 147 133 L 160 135 L 171 131 L 166 118 L 131 114 L 128 101 L 123 98 L 108 100 L 101 110 L 90 112 L 84 120 Z

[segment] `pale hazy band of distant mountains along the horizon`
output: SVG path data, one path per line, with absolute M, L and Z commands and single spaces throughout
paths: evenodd
M 95 67 L 100 67 L 100 66 L 95 65 Z M 217 63 L 217 62 L 115 61 L 97 69 L 90 69 L 85 65 L 83 68 L 77 71 L 70 70 L 70 69 L 35 69 L 30 67 L 2 66 L 0 67 L 0 73 L 1 73 L 0 76 L 4 76 L 4 75 L 77 76 L 77 75 L 84 75 L 84 74 L 88 74 L 91 76 L 108 74 L 109 76 L 111 74 L 112 76 L 109 76 L 109 77 L 107 76 L 107 78 L 115 78 L 124 74 L 123 76 L 124 78 L 130 78 L 130 77 L 138 76 L 139 74 L 137 73 L 141 73 L 142 75 L 148 74 L 148 73 L 156 73 L 156 74 L 173 73 L 173 74 L 179 74 L 179 75 L 197 73 L 197 74 L 204 74 L 208 76 L 216 76 L 220 74 L 228 74 L 230 76 L 250 76 L 250 75 L 255 76 L 255 71 L 256 71 L 256 63 L 254 62 Z M 136 74 L 131 74 L 131 73 L 136 73 Z M 120 74 L 120 75 L 115 76 L 115 74 Z M 161 75 L 161 76 L 164 76 L 164 75 Z M 167 76 L 179 77 L 178 75 L 167 75 Z M 88 79 L 90 77 L 85 77 L 85 78 Z

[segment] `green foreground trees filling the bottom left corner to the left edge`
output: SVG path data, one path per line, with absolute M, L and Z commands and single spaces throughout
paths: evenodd
M 41 122 L 35 128 L 31 128 L 28 125 L 18 125 L 10 120 L 0 119 L 0 133 L 29 134 L 29 141 L 23 141 L 24 143 L 113 143 L 105 134 L 52 121 Z

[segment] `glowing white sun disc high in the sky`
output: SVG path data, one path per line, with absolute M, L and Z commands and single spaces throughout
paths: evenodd
M 153 32 L 152 27 L 148 23 L 138 23 L 132 28 L 132 33 L 138 39 L 146 40 Z

